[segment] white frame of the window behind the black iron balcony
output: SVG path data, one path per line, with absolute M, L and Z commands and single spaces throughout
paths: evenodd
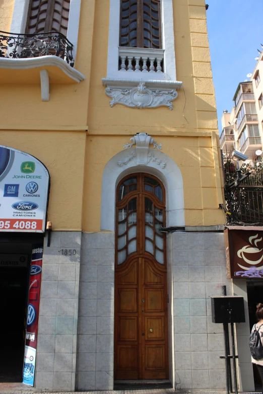
M 24 34 L 26 30 L 29 0 L 15 0 L 10 32 Z M 80 22 L 81 0 L 71 0 L 67 38 L 73 44 L 73 57 L 76 58 Z

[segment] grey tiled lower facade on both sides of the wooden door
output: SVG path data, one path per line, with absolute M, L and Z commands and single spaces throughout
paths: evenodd
M 44 247 L 36 389 L 113 389 L 114 242 L 112 232 L 58 231 Z M 223 327 L 212 323 L 210 299 L 222 285 L 228 295 L 234 289 L 244 296 L 248 322 L 245 280 L 226 278 L 224 234 L 167 235 L 169 378 L 176 389 L 225 387 Z M 236 334 L 240 389 L 251 390 L 248 323 L 236 325 Z

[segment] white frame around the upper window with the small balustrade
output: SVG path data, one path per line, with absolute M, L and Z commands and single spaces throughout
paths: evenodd
M 128 72 L 127 75 L 125 75 L 123 71 L 118 69 L 120 0 L 110 0 L 107 78 L 138 80 L 139 77 L 140 80 L 143 81 L 176 81 L 172 0 L 161 0 L 161 18 L 164 72 L 156 73 L 156 75 L 153 72 Z M 136 50 L 136 48 L 133 49 Z M 150 51 L 151 49 L 149 49 L 149 53 Z

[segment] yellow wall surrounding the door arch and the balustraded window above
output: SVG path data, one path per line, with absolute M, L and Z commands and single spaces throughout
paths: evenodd
M 101 86 L 101 78 L 107 74 L 108 6 L 108 0 L 101 0 L 95 7 L 83 229 L 100 230 L 103 169 L 137 132 L 155 136 L 163 144 L 162 151 L 179 166 L 186 225 L 224 224 L 224 213 L 218 208 L 223 202 L 221 160 L 204 0 L 173 2 L 176 73 L 183 90 L 179 90 L 172 111 L 166 107 L 109 106 Z

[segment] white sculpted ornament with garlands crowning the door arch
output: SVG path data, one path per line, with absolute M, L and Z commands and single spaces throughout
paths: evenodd
M 119 167 L 127 165 L 131 160 L 136 160 L 138 166 L 147 166 L 151 161 L 159 165 L 162 169 L 165 168 L 166 163 L 162 162 L 153 153 L 149 152 L 149 145 L 153 145 L 154 148 L 162 149 L 162 144 L 158 145 L 158 142 L 154 140 L 147 133 L 137 133 L 134 137 L 130 138 L 131 142 L 123 145 L 123 149 L 131 148 L 136 144 L 136 150 L 132 150 L 131 153 L 125 157 L 125 159 L 118 161 Z

